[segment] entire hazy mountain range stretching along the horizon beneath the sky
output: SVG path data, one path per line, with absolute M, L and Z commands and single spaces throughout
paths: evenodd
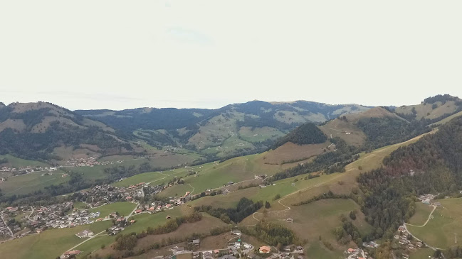
M 383 134 L 374 137 L 378 128 L 373 125 L 393 128 L 396 123 L 405 126 L 417 121 L 429 125 L 462 111 L 462 100 L 439 95 L 413 106 L 371 108 L 313 101 L 249 101 L 220 109 L 70 111 L 46 102 L 0 103 L 0 154 L 58 161 L 78 153 L 104 157 L 154 152 L 146 148 L 149 145 L 154 150 L 186 149 L 199 160 L 224 159 L 267 150 L 278 139 L 278 145 L 296 139 L 325 141 L 322 135 L 311 133 L 298 138 L 295 132 L 283 138 L 305 123 L 317 124 L 328 138 L 339 136 L 350 145 L 373 148 L 374 143 L 391 139 Z M 399 133 L 415 130 L 406 127 Z

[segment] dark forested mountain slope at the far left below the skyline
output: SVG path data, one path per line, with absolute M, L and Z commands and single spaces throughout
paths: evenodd
M 104 123 L 54 104 L 13 103 L 0 107 L 1 154 L 32 160 L 67 159 L 63 154 L 54 153 L 59 147 L 82 149 L 97 155 L 133 151 L 130 143 L 118 138 L 115 130 Z

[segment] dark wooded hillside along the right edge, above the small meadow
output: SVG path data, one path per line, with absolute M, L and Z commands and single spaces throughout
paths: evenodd
M 376 238 L 392 239 L 397 226 L 408 220 L 420 194 L 457 196 L 462 189 L 462 117 L 416 143 L 395 150 L 385 167 L 359 176 L 367 221 Z

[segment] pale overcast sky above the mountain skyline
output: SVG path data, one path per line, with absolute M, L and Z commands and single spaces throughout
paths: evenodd
M 0 101 L 217 108 L 462 97 L 462 1 L 0 1 Z

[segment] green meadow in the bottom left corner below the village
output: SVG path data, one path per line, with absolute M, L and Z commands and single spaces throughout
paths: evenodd
M 111 224 L 110 221 L 101 221 L 91 225 L 76 226 L 75 228 L 51 229 L 38 235 L 15 239 L 0 245 L 1 258 L 56 258 L 69 248 L 85 240 L 75 236 L 76 233 L 84 229 L 99 233 Z

